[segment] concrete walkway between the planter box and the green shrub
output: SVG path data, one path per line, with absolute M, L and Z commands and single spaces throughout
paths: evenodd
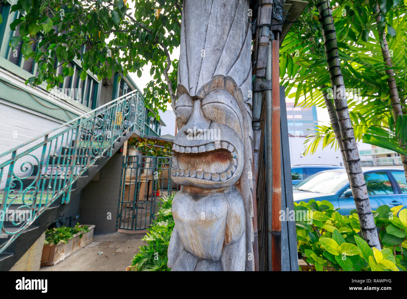
M 138 247 L 146 244 L 144 232 L 94 234 L 93 241 L 54 266 L 39 271 L 125 271 Z M 98 254 L 98 252 L 103 252 Z

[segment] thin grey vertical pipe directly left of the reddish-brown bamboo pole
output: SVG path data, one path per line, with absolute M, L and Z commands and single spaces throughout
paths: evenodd
M 267 68 L 266 68 L 266 80 L 271 80 L 271 42 L 269 42 L 268 46 L 268 53 L 267 53 Z M 268 255 L 268 268 L 269 271 L 272 269 L 272 251 L 271 251 L 271 199 L 272 199 L 272 155 L 271 155 L 271 90 L 266 90 L 266 164 L 267 164 L 267 183 L 266 183 L 266 198 L 267 198 L 267 255 Z M 279 158 L 280 159 L 280 158 Z

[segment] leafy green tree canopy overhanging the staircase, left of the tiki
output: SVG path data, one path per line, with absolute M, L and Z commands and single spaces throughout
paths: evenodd
M 10 27 L 18 28 L 21 37 L 13 37 L 10 44 L 15 49 L 22 42 L 24 55 L 38 63 L 38 76 L 26 81 L 31 85 L 43 81 L 59 85 L 55 60 L 59 65 L 77 63 L 74 59 L 78 59 L 82 70 L 98 79 L 110 78 L 114 72 L 141 76 L 142 68 L 151 63 L 153 80 L 144 99 L 158 114 L 158 109 L 165 111 L 176 89 L 177 62 L 169 59 L 169 54 L 179 46 L 181 7 L 179 0 L 72 0 L 63 5 L 59 0 L 19 0 L 11 11 L 25 11 L 24 17 L 11 22 Z M 158 15 L 154 15 L 156 10 L 160 10 Z M 35 52 L 32 44 L 38 45 Z M 62 73 L 68 68 L 64 64 Z

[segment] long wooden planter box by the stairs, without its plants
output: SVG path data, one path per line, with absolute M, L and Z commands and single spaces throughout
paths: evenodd
M 53 266 L 64 260 L 72 253 L 78 251 L 85 245 L 93 241 L 93 231 L 95 225 L 80 225 L 89 227 L 87 233 L 78 233 L 73 236 L 68 243 L 44 244 L 42 249 L 41 266 Z M 79 236 L 82 234 L 82 238 Z

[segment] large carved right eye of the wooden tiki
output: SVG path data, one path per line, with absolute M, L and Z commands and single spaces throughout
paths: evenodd
M 239 137 L 243 138 L 240 122 L 243 116 L 239 105 L 229 92 L 222 89 L 210 92 L 202 100 L 202 110 L 210 120 L 232 128 Z

